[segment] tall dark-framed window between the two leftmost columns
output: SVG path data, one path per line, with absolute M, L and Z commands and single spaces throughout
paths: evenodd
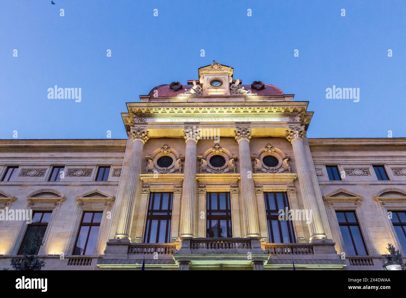
M 173 193 L 151 193 L 145 243 L 168 243 L 171 232 Z

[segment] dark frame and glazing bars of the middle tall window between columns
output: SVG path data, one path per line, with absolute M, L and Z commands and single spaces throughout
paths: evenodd
M 211 209 L 212 205 L 212 194 L 217 194 L 217 207 L 220 208 L 220 193 L 225 193 L 226 195 L 226 209 Z M 229 205 L 229 206 L 227 206 Z M 227 208 L 228 207 L 228 208 Z M 213 212 L 222 212 L 225 214 L 212 214 Z M 227 237 L 209 237 L 208 233 L 212 233 L 212 221 L 216 220 L 217 224 L 220 220 L 225 220 L 227 225 Z M 231 195 L 229 191 L 207 191 L 206 192 L 206 238 L 232 238 L 233 237 L 233 221 L 231 216 Z M 217 235 L 220 235 L 220 225 L 217 227 Z

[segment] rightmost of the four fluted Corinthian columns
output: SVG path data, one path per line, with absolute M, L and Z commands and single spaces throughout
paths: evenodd
M 292 143 L 304 208 L 309 211 L 311 210 L 311 213 L 309 213 L 311 214 L 311 218 L 307 221 L 311 235 L 310 240 L 327 238 L 324 233 L 319 208 L 317 207 L 315 190 L 310 179 L 311 171 L 306 162 L 306 155 L 304 153 L 304 126 L 296 125 L 294 128 L 288 128 L 285 137 Z

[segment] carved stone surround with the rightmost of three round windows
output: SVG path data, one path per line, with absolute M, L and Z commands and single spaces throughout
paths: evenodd
M 290 156 L 270 143 L 252 157 L 254 173 L 290 173 Z

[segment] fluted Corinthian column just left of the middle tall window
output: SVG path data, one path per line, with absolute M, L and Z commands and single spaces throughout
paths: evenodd
M 185 128 L 186 141 L 183 192 L 180 212 L 180 237 L 194 237 L 194 201 L 196 192 L 196 144 L 200 139 L 200 129 L 195 126 Z

